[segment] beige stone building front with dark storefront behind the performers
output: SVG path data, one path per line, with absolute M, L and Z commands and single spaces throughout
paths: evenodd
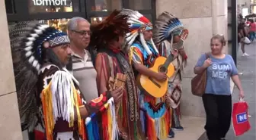
M 231 1 L 231 0 L 230 0 Z M 186 116 L 204 117 L 203 103 L 190 92 L 190 79 L 194 77 L 194 64 L 206 51 L 210 51 L 210 39 L 215 34 L 228 38 L 228 0 L 5 0 L 0 2 L 0 80 L 1 139 L 21 140 L 21 127 L 11 62 L 8 29 L 17 21 L 41 20 L 42 23 L 66 30 L 72 17 L 85 17 L 98 23 L 114 9 L 131 8 L 146 15 L 152 23 L 163 11 L 179 17 L 189 30 L 184 43 L 188 65 L 184 70 L 181 113 Z M 230 17 L 231 18 L 231 17 Z M 231 38 L 230 38 L 231 39 Z M 230 41 L 232 42 L 232 41 Z M 229 51 L 228 51 L 229 50 Z M 224 51 L 230 53 L 232 45 Z

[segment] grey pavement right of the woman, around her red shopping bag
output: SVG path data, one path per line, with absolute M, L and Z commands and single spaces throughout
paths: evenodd
M 251 123 L 251 130 L 245 135 L 235 137 L 232 126 L 226 136 L 228 140 L 253 140 L 256 137 L 256 42 L 245 46 L 245 51 L 250 54 L 249 57 L 242 57 L 239 50 L 238 53 L 238 70 L 242 72 L 240 76 L 243 89 L 245 91 L 245 101 L 249 105 L 249 121 Z M 255 81 L 255 82 L 254 82 Z M 235 86 L 232 101 L 238 101 L 238 89 Z

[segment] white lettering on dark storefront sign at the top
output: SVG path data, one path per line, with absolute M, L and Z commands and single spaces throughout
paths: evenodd
M 37 6 L 65 6 L 66 0 L 32 0 L 34 2 L 34 5 Z

